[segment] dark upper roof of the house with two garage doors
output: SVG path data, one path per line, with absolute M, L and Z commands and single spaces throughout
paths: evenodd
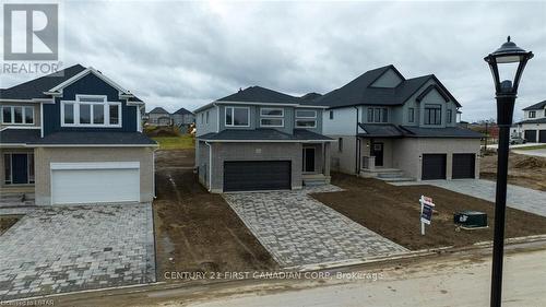
M 389 70 L 394 70 L 401 78 L 402 82 L 395 87 L 373 87 L 371 86 L 383 73 Z M 385 66 L 365 72 L 342 87 L 324 94 L 314 101 L 318 105 L 325 105 L 331 108 L 357 106 L 357 105 L 381 105 L 381 106 L 397 106 L 403 105 L 411 96 L 413 96 L 425 83 L 434 80 L 437 87 L 441 91 L 442 96 L 448 96 L 458 107 L 461 105 L 441 84 L 434 74 L 417 76 L 413 79 L 404 79 L 394 66 Z

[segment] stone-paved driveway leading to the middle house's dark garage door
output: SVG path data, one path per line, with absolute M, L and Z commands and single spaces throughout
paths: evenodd
M 308 196 L 339 190 L 324 186 L 299 191 L 227 193 L 224 198 L 284 268 L 407 251 Z

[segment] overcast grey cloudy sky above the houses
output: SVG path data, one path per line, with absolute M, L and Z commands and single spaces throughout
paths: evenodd
M 523 106 L 546 99 L 545 2 L 66 2 L 62 62 L 92 66 L 146 102 L 194 109 L 261 85 L 327 93 L 367 70 L 436 74 L 463 120 L 495 117 L 483 57 L 506 40 L 533 50 Z M 29 75 L 1 75 L 11 86 Z

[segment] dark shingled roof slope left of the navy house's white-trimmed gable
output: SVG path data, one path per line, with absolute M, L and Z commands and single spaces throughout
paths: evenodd
M 32 99 L 32 98 L 49 98 L 44 92 L 66 82 L 74 75 L 84 71 L 85 68 L 81 64 L 71 66 L 63 70 L 46 74 L 44 76 L 3 88 L 0 94 L 1 99 Z

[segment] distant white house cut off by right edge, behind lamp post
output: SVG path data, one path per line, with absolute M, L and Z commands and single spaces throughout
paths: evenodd
M 518 126 L 527 142 L 546 143 L 546 101 L 524 108 Z

